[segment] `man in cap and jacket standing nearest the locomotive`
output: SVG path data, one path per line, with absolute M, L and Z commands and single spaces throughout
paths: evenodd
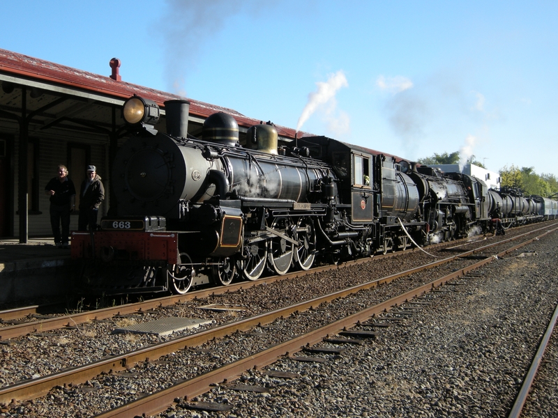
M 80 189 L 80 217 L 77 219 L 79 231 L 94 231 L 100 204 L 105 200 L 105 187 L 100 181 L 95 166 L 87 166 L 87 174 Z

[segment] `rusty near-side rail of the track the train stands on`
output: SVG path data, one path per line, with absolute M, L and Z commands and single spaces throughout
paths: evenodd
M 471 251 L 466 251 L 465 253 L 459 254 L 458 256 L 455 256 L 455 257 L 459 257 L 459 256 L 460 257 L 465 257 L 465 256 L 468 256 L 468 255 L 471 255 L 471 254 L 475 254 L 476 252 L 483 251 L 487 248 L 490 248 L 490 247 L 493 247 L 493 246 L 496 246 L 496 245 L 501 245 L 502 243 L 505 243 L 505 242 L 508 242 L 508 241 L 511 241 L 511 240 L 520 239 L 525 235 L 529 235 L 531 233 L 536 233 L 536 232 L 541 231 L 543 229 L 551 228 L 552 226 L 553 226 L 552 224 L 551 225 L 546 225 L 546 226 L 541 226 L 541 228 L 535 229 L 534 231 L 529 231 L 527 233 L 522 233 L 520 235 L 508 238 L 506 240 L 493 242 L 492 244 L 485 245 L 485 246 L 480 247 L 478 249 L 474 249 L 474 250 L 471 250 Z M 446 244 L 446 242 L 444 242 L 444 244 Z M 397 256 L 399 254 L 401 254 L 401 253 L 400 252 L 390 253 L 390 254 L 385 254 L 383 256 L 377 256 L 377 258 Z M 446 260 L 446 259 L 447 258 L 444 258 L 443 260 Z M 107 319 L 107 318 L 112 318 L 115 315 L 126 315 L 126 314 L 141 313 L 142 311 L 147 311 L 149 309 L 156 309 L 156 308 L 159 308 L 159 307 L 170 306 L 170 305 L 177 304 L 177 303 L 184 303 L 188 300 L 195 300 L 196 298 L 201 299 L 201 298 L 209 297 L 211 295 L 216 295 L 216 294 L 223 294 L 223 293 L 227 293 L 227 292 L 232 293 L 234 291 L 239 291 L 241 289 L 252 288 L 254 286 L 260 286 L 262 284 L 270 284 L 270 283 L 273 283 L 275 281 L 293 279 L 293 278 L 296 278 L 296 277 L 302 277 L 305 274 L 324 272 L 324 271 L 327 271 L 327 270 L 335 270 L 335 269 L 339 269 L 339 268 L 346 268 L 346 267 L 349 267 L 350 265 L 368 263 L 371 260 L 372 260 L 372 257 L 359 258 L 358 260 L 347 261 L 347 262 L 342 263 L 340 265 L 324 265 L 324 266 L 320 266 L 320 267 L 317 267 L 317 268 L 312 268 L 312 269 L 306 270 L 306 271 L 296 271 L 296 272 L 287 273 L 287 274 L 284 274 L 282 276 L 266 277 L 264 279 L 259 279 L 259 280 L 256 280 L 256 281 L 243 281 L 243 282 L 236 283 L 236 284 L 230 284 L 228 286 L 202 289 L 202 290 L 199 290 L 199 291 L 186 293 L 186 295 L 173 295 L 173 296 L 158 297 L 156 299 L 146 300 L 146 301 L 143 301 L 143 302 L 123 304 L 123 305 L 120 305 L 118 307 L 107 307 L 107 308 L 103 308 L 103 309 L 96 309 L 95 311 L 80 312 L 78 314 L 71 314 L 71 315 L 59 316 L 59 317 L 56 317 L 56 318 L 50 318 L 50 319 L 45 319 L 45 320 L 36 320 L 36 321 L 29 322 L 29 323 L 22 323 L 22 324 L 7 326 L 7 327 L 0 327 L 0 340 L 6 340 L 6 339 L 15 338 L 17 336 L 27 335 L 31 332 L 47 332 L 47 331 L 50 331 L 50 330 L 59 329 L 61 327 L 76 326 L 76 325 L 80 325 L 80 324 L 89 322 L 91 320 L 103 320 L 103 319 Z

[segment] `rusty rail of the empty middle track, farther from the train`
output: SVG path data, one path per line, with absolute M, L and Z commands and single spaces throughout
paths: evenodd
M 556 231 L 556 229 L 553 231 Z M 548 231 L 543 235 L 546 235 L 550 232 L 552 231 Z M 497 256 L 504 256 L 510 251 L 513 251 L 518 247 L 527 245 L 530 242 L 537 240 L 538 238 L 539 237 L 527 240 L 526 242 L 522 242 L 520 243 L 520 245 L 516 245 L 511 249 L 506 249 L 497 254 Z M 137 399 L 136 401 L 126 403 L 118 408 L 114 408 L 113 410 L 103 412 L 99 415 L 96 415 L 96 417 L 127 418 L 133 416 L 147 416 L 156 414 L 165 410 L 165 408 L 167 408 L 169 405 L 172 405 L 176 398 L 190 399 L 200 394 L 204 394 L 211 389 L 211 385 L 215 385 L 218 382 L 235 380 L 236 378 L 239 378 L 241 373 L 248 369 L 259 369 L 272 364 L 284 355 L 296 353 L 302 350 L 304 346 L 312 346 L 315 343 L 319 343 L 326 336 L 336 334 L 340 330 L 354 327 L 355 325 L 359 324 L 359 321 L 367 320 L 371 316 L 381 314 L 384 311 L 389 311 L 392 307 L 408 302 L 414 297 L 423 295 L 436 286 L 442 286 L 447 281 L 450 281 L 457 277 L 465 276 L 468 272 L 476 270 L 477 268 L 480 268 L 485 264 L 491 263 L 494 259 L 494 256 L 487 257 L 481 261 L 478 261 L 477 263 L 467 266 L 466 268 L 462 268 L 455 272 L 451 272 L 444 277 L 440 277 L 439 279 L 436 279 L 428 284 L 418 286 L 412 291 L 408 291 L 406 293 L 403 293 L 402 295 L 398 295 L 384 302 L 380 302 L 373 307 L 363 309 L 356 314 L 352 314 L 350 316 L 337 320 L 333 323 L 325 325 L 324 327 L 318 328 L 317 330 L 312 330 L 308 334 L 297 336 L 294 339 L 285 341 L 284 343 L 280 343 L 266 350 L 262 350 L 259 353 L 255 353 L 253 355 L 250 355 L 249 357 L 246 357 L 245 359 L 239 359 L 236 362 L 226 364 L 225 366 L 222 366 L 213 371 L 209 371 L 208 373 L 204 373 L 203 375 L 197 376 L 196 378 L 176 383 L 175 385 L 172 385 L 167 389 L 160 390 L 159 392 L 156 392 L 154 394 L 149 394 L 148 396 L 144 396 L 140 399 Z

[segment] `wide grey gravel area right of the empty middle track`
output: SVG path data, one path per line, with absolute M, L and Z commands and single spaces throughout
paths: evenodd
M 239 382 L 264 393 L 219 385 L 194 400 L 230 405 L 228 412 L 188 410 L 192 402 L 181 401 L 160 417 L 506 417 L 558 301 L 558 234 L 482 271 L 436 293 L 375 341 L 347 345 L 324 363 L 284 359 L 243 373 Z M 525 416 L 558 416 L 552 348 L 550 357 Z M 273 371 L 297 377 L 269 376 Z

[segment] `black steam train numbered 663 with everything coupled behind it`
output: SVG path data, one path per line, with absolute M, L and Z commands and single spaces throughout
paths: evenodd
M 163 133 L 157 104 L 123 104 L 131 137 L 114 159 L 109 215 L 72 236 L 88 292 L 181 294 L 486 232 L 497 211 L 506 226 L 558 214 L 556 201 L 327 137 L 280 146 L 271 123 L 250 127 L 241 146 L 223 112 L 197 139 L 188 107 L 165 102 Z

